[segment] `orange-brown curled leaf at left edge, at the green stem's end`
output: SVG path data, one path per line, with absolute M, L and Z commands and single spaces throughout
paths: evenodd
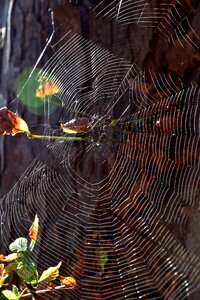
M 28 125 L 16 113 L 8 110 L 7 107 L 0 109 L 0 134 L 29 133 Z

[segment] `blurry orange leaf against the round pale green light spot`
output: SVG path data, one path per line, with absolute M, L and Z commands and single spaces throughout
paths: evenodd
M 48 81 L 46 78 L 40 78 L 40 85 L 36 90 L 36 97 L 45 98 L 46 96 L 55 95 L 60 92 L 59 87 L 53 81 Z

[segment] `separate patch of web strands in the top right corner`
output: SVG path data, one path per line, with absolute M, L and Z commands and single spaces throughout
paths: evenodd
M 99 4 L 99 6 L 103 2 L 104 1 L 102 1 Z M 173 35 L 175 34 L 179 38 L 179 36 L 177 34 L 177 31 L 178 31 L 180 36 L 185 40 L 185 42 L 191 48 L 193 48 L 194 50 L 199 49 L 199 46 L 194 41 L 191 40 L 190 36 L 188 36 L 188 34 L 186 34 L 185 30 L 183 29 L 183 27 L 181 25 L 181 23 L 186 20 L 190 30 L 195 34 L 196 38 L 198 40 L 200 40 L 198 34 L 192 28 L 192 26 L 188 20 L 188 17 L 183 17 L 180 15 L 180 13 L 176 7 L 177 4 L 184 6 L 180 1 L 176 1 L 176 3 L 174 3 L 174 4 L 173 3 L 169 3 L 169 4 L 160 3 L 158 8 L 153 7 L 153 11 L 152 11 L 152 8 L 150 8 L 151 16 L 149 15 L 148 11 L 145 12 L 145 10 L 147 10 L 147 8 L 150 7 L 148 2 L 146 2 L 146 1 L 143 1 L 143 2 L 144 3 L 141 4 L 141 1 L 138 1 L 138 3 L 140 3 L 140 5 L 143 7 L 143 8 L 141 8 L 142 11 L 140 12 L 139 15 L 137 15 L 136 2 L 132 3 L 132 1 L 129 1 L 129 0 L 124 0 L 123 10 L 121 10 L 120 18 L 119 18 L 119 16 L 116 17 L 116 10 L 114 8 L 108 10 L 107 13 L 104 13 L 104 9 L 106 9 L 106 8 L 108 9 L 109 5 L 106 8 L 104 8 L 103 10 L 101 10 L 97 15 L 103 14 L 108 19 L 116 18 L 116 20 L 118 22 L 121 22 L 123 25 L 134 24 L 136 22 L 136 19 L 137 19 L 137 25 L 145 26 L 145 27 L 146 26 L 149 27 L 152 24 L 152 22 L 155 22 L 155 24 L 152 24 L 152 27 L 155 27 L 154 32 L 159 33 L 159 35 L 161 37 L 162 37 L 162 35 L 165 35 L 165 37 L 168 39 L 169 42 L 171 40 L 173 43 L 175 43 Z M 113 3 L 119 3 L 119 0 L 114 1 Z M 97 10 L 99 6 L 97 6 L 95 9 Z M 134 14 L 137 17 L 136 19 L 133 18 Z M 169 28 L 167 28 L 166 25 L 168 25 Z M 186 34 L 186 37 L 184 34 Z M 180 39 L 179 39 L 179 42 L 180 42 Z

